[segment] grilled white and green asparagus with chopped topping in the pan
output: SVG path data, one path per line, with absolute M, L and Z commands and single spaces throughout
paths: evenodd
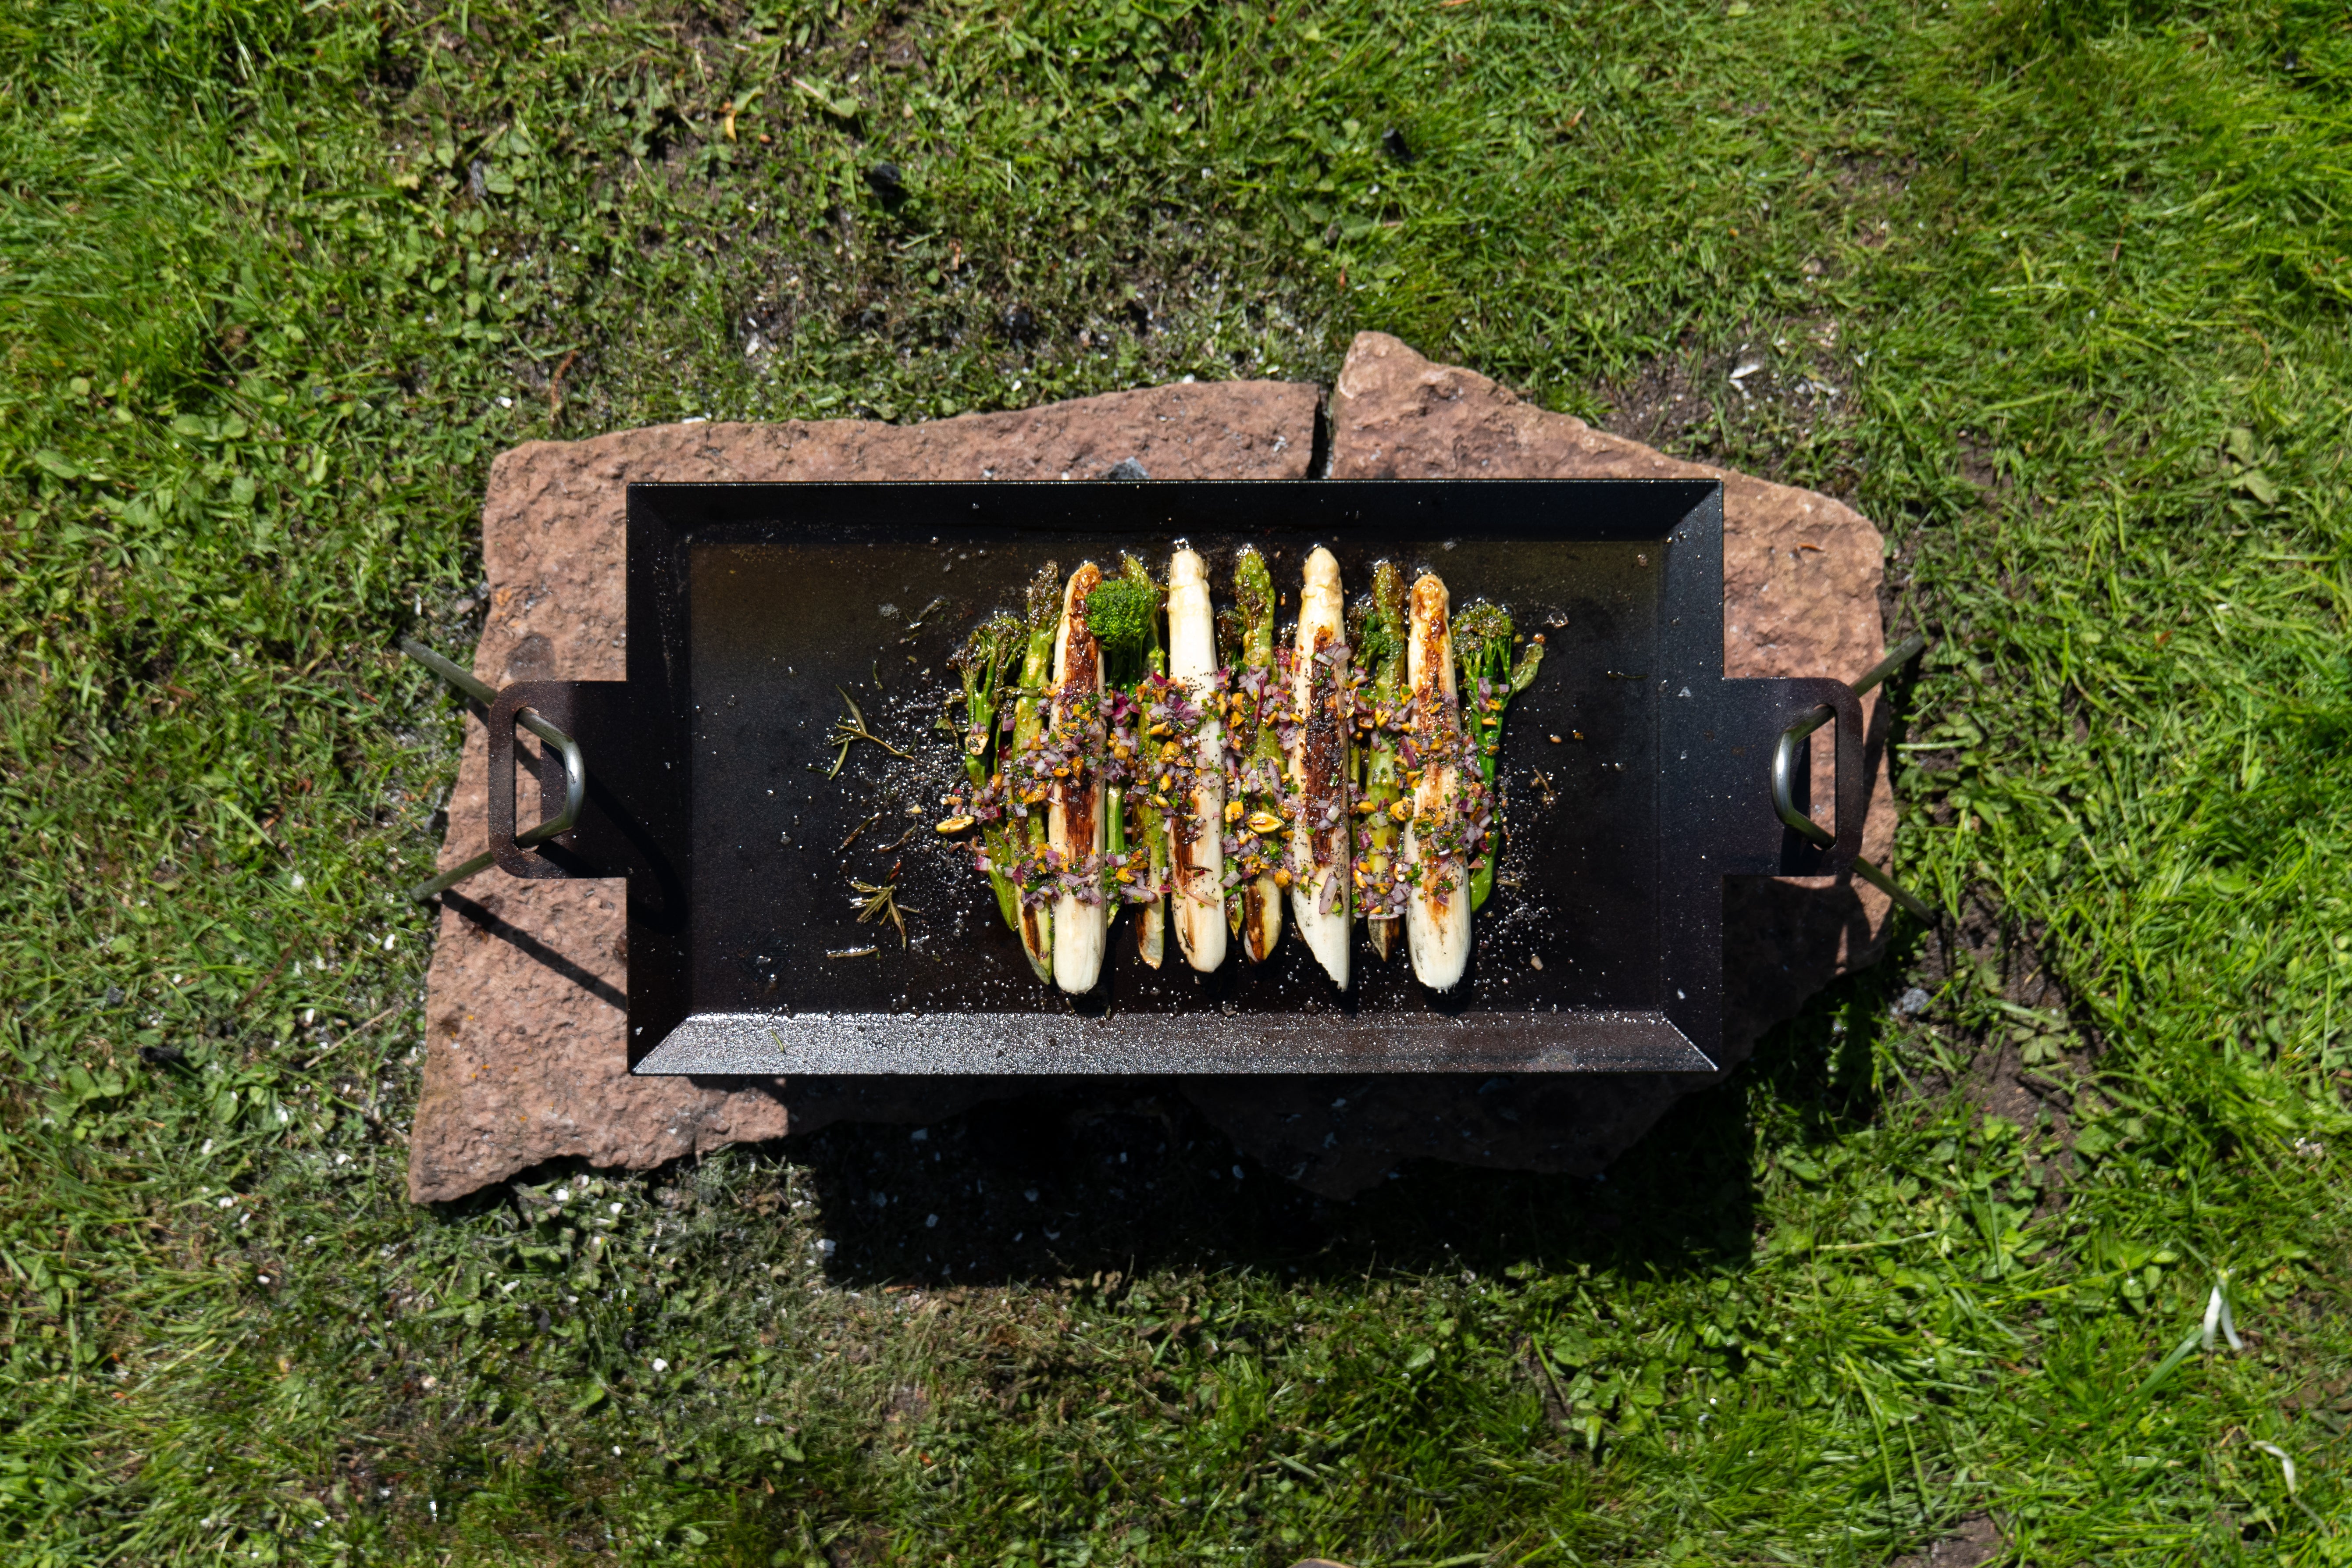
M 1101 980 L 1120 912 L 1145 964 L 1174 926 L 1209 973 L 1232 947 L 1270 959 L 1284 903 L 1336 985 L 1362 919 L 1374 961 L 1402 936 L 1414 976 L 1451 990 L 1494 891 L 1503 719 L 1543 637 L 1496 604 L 1456 614 L 1437 574 L 1406 585 L 1392 562 L 1350 609 L 1322 548 L 1287 635 L 1258 550 L 1232 595 L 1221 618 L 1190 548 L 1164 581 L 1134 555 L 1068 578 L 1049 562 L 1025 616 L 953 658 L 967 788 L 938 832 L 969 842 L 1037 978 L 1073 994 Z

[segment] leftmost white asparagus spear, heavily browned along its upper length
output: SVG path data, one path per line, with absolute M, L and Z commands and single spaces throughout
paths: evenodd
M 1056 764 L 1047 797 L 1047 837 L 1063 872 L 1087 886 L 1063 886 L 1054 900 L 1054 985 L 1073 997 L 1091 992 L 1103 976 L 1103 943 L 1110 910 L 1094 884 L 1103 856 L 1103 651 L 1087 630 L 1087 595 L 1103 581 L 1094 562 L 1070 574 L 1061 595 L 1061 628 L 1054 632 L 1054 741 Z

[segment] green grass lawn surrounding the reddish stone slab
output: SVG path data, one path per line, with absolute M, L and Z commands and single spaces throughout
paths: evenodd
M 7 0 L 9 1561 L 2352 1561 L 2347 214 L 2324 0 Z M 1879 520 L 1964 922 L 1606 1182 L 405 1204 L 494 451 L 1367 327 Z

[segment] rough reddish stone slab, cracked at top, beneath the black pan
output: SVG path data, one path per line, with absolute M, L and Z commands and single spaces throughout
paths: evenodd
M 492 614 L 475 672 L 513 679 L 623 675 L 621 505 L 630 480 L 1051 480 L 1134 458 L 1148 475 L 1303 477 L 1317 388 L 1167 386 L 931 425 L 861 421 L 661 425 L 517 447 L 492 468 L 482 512 Z M 1729 675 L 1858 675 L 1879 656 L 1877 531 L 1853 510 L 1649 447 L 1519 402 L 1383 334 L 1348 353 L 1331 407 L 1338 477 L 1623 477 L 1724 482 Z M 1877 755 L 1872 750 L 1872 766 Z M 1828 799 L 1825 780 L 1816 799 Z M 475 726 L 449 804 L 442 863 L 485 835 Z M 1893 802 L 1872 795 L 1865 851 L 1884 856 Z M 1842 879 L 1733 882 L 1726 910 L 1726 1065 L 1844 969 L 1877 957 L 1884 898 Z M 724 1143 L 835 1119 L 927 1121 L 1018 1084 L 753 1081 L 715 1086 L 626 1072 L 619 884 L 468 882 L 442 914 L 428 976 L 428 1056 L 409 1145 L 409 1194 L 454 1199 L 557 1157 L 647 1168 Z M 1397 1159 L 1597 1171 L 1693 1079 L 1569 1077 L 1411 1086 L 1367 1079 L 1197 1079 L 1188 1098 L 1251 1157 L 1329 1197 Z

